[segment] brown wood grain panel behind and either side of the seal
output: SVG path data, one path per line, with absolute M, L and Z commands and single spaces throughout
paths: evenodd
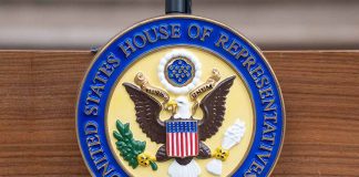
M 359 51 L 265 52 L 287 129 L 274 176 L 358 176 Z M 88 51 L 0 51 L 0 176 L 89 176 L 75 135 Z

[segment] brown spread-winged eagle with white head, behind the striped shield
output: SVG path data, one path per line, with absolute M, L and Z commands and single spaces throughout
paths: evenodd
M 199 103 L 199 107 L 203 112 L 202 119 L 195 119 L 193 117 L 191 103 L 186 97 L 180 96 L 175 100 L 177 112 L 173 114 L 168 121 L 197 121 L 198 155 L 196 158 L 198 159 L 206 159 L 212 156 L 211 149 L 205 145 L 204 140 L 214 136 L 223 124 L 226 111 L 226 97 L 235 77 L 236 76 L 229 76 L 223 80 L 202 98 Z M 142 132 L 152 142 L 163 144 L 155 155 L 156 160 L 166 162 L 171 158 L 175 158 L 182 166 L 189 164 L 194 158 L 193 156 L 184 158 L 170 157 L 166 153 L 166 124 L 160 119 L 160 113 L 163 110 L 162 104 L 132 83 L 123 83 L 123 86 L 135 105 L 136 122 Z

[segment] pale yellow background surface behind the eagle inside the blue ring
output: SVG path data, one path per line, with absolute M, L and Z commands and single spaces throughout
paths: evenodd
M 110 137 L 110 147 L 112 147 L 112 153 L 115 154 L 117 157 L 117 160 L 121 162 L 122 166 L 129 170 L 132 175 L 135 176 L 143 176 L 143 177 L 163 177 L 167 174 L 167 168 L 171 165 L 172 160 L 168 160 L 166 163 L 157 163 L 158 170 L 152 171 L 152 169 L 139 167 L 137 169 L 132 169 L 129 167 L 127 163 L 123 160 L 122 157 L 119 156 L 119 150 L 116 150 L 115 147 L 115 138 L 112 136 L 112 132 L 116 129 L 115 122 L 116 119 L 121 119 L 123 123 L 130 123 L 131 131 L 134 134 L 135 139 L 145 140 L 146 142 L 146 150 L 152 155 L 155 155 L 156 150 L 161 145 L 151 142 L 150 138 L 146 137 L 145 134 L 142 133 L 139 124 L 135 121 L 135 111 L 134 111 L 134 104 L 131 101 L 129 94 L 124 90 L 124 86 L 122 86 L 122 83 L 124 82 L 131 82 L 133 83 L 134 75 L 142 71 L 144 75 L 146 75 L 150 80 L 150 83 L 153 85 L 163 87 L 163 85 L 160 83 L 158 76 L 157 76 L 157 65 L 160 63 L 160 60 L 168 52 L 171 52 L 174 49 L 178 48 L 170 48 L 170 49 L 163 49 L 157 52 L 150 53 L 148 55 L 143 56 L 135 64 L 131 66 L 117 81 L 117 85 L 115 85 L 113 90 L 113 95 L 107 104 L 107 116 L 106 116 L 106 124 L 107 124 L 107 137 Z M 246 133 L 243 137 L 242 142 L 235 146 L 230 150 L 229 158 L 224 163 L 224 173 L 223 176 L 228 176 L 233 170 L 235 170 L 239 165 L 242 159 L 246 156 L 247 149 L 249 148 L 252 144 L 252 135 L 253 135 L 253 126 L 254 126 L 254 107 L 252 105 L 252 98 L 250 95 L 246 88 L 245 83 L 242 81 L 240 76 L 233 70 L 229 65 L 227 65 L 226 62 L 224 62 L 220 58 L 217 58 L 216 55 L 205 52 L 201 49 L 195 48 L 184 48 L 181 46 L 180 49 L 186 49 L 187 51 L 192 52 L 193 54 L 198 58 L 199 62 L 202 63 L 202 82 L 204 82 L 212 73 L 212 69 L 219 70 L 222 74 L 222 80 L 226 79 L 232 75 L 237 75 L 234 85 L 230 87 L 230 92 L 227 96 L 227 103 L 226 103 L 226 114 L 225 114 L 225 121 L 223 123 L 223 126 L 219 128 L 218 133 L 213 136 L 212 138 L 207 139 L 205 144 L 214 150 L 216 147 L 220 146 L 222 138 L 224 136 L 224 133 L 226 128 L 228 128 L 230 125 L 233 125 L 237 118 L 239 118 L 242 122 L 246 124 Z M 144 67 L 146 70 L 144 70 Z M 205 95 L 205 94 L 204 94 Z M 172 98 L 175 98 L 178 95 L 171 94 Z M 194 116 L 195 118 L 201 119 L 202 113 L 201 108 L 196 112 L 197 114 Z M 168 113 L 162 112 L 161 118 L 167 119 L 171 115 Z M 155 127 L 153 127 L 155 128 Z M 202 167 L 202 176 L 208 177 L 212 176 L 208 174 L 205 169 L 205 165 L 209 162 L 209 159 L 203 160 L 203 159 L 196 159 L 198 165 Z

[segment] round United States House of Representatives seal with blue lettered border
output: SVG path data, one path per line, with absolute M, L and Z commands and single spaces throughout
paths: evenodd
M 260 50 L 194 15 L 135 24 L 94 56 L 76 105 L 93 176 L 269 176 L 284 101 Z

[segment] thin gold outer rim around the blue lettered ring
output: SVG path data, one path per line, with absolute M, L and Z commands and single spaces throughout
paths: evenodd
M 274 170 L 274 167 L 277 165 L 278 163 L 278 159 L 279 159 L 279 156 L 280 156 L 280 153 L 281 153 L 281 149 L 283 149 L 283 144 L 284 144 L 284 139 L 285 139 L 285 129 L 286 129 L 286 112 L 285 112 L 285 103 L 284 103 L 284 97 L 283 97 L 283 94 L 281 94 L 281 88 L 280 88 L 280 85 L 279 85 L 279 82 L 278 82 L 278 79 L 276 77 L 275 75 L 275 72 L 274 70 L 271 69 L 271 66 L 269 65 L 267 59 L 265 58 L 265 55 L 261 53 L 260 49 L 255 45 L 253 42 L 250 42 L 245 35 L 243 35 L 242 33 L 239 33 L 237 30 L 230 28 L 230 27 L 227 27 L 218 21 L 215 21 L 215 20 L 211 20 L 211 19 L 207 19 L 207 18 L 203 18 L 203 17 L 197 17 L 197 15 L 191 15 L 191 14 L 167 14 L 167 15 L 160 15 L 160 17 L 155 17 L 155 18 L 151 18 L 151 19 L 146 19 L 146 20 L 143 20 L 141 22 L 137 22 L 135 24 L 133 24 L 132 27 L 127 28 L 126 30 L 117 33 L 116 35 L 114 35 L 104 46 L 101 48 L 101 50 L 94 55 L 90 66 L 88 67 L 83 79 L 82 79 L 82 82 L 81 82 L 81 86 L 79 87 L 78 90 L 78 98 L 76 98 L 76 105 L 75 105 L 75 129 L 76 129 L 76 139 L 78 139 L 78 146 L 80 148 L 80 152 L 81 152 L 81 156 L 82 156 L 82 159 L 84 160 L 85 165 L 86 165 L 86 168 L 88 170 L 90 171 L 90 174 L 92 176 L 94 176 L 94 174 L 92 173 L 91 168 L 89 167 L 88 165 L 88 162 L 85 160 L 84 158 L 84 155 L 83 155 L 83 149 L 81 148 L 81 144 L 80 144 L 80 138 L 79 138 L 79 129 L 78 129 L 78 110 L 79 110 L 79 102 L 80 102 L 80 94 L 81 94 L 81 91 L 83 88 L 83 84 L 85 82 L 85 79 L 90 72 L 90 70 L 92 69 L 94 62 L 99 59 L 99 56 L 104 52 L 105 49 L 107 49 L 107 46 L 110 44 L 112 44 L 116 39 L 119 39 L 120 37 L 122 37 L 123 34 L 125 34 L 127 31 L 130 30 L 133 30 L 135 28 L 137 28 L 139 25 L 142 25 L 142 24 L 145 24 L 145 23 L 148 23 L 148 22 L 152 22 L 152 21 L 157 21 L 157 20 L 163 20 L 163 19 L 171 19 L 171 18 L 182 18 L 182 19 L 195 19 L 195 20 L 203 20 L 203 21 L 207 21 L 207 22 L 211 22 L 211 23 L 214 23 L 214 24 L 217 24 L 224 29 L 227 29 L 229 31 L 232 31 L 233 33 L 235 33 L 237 37 L 242 38 L 244 41 L 246 41 L 252 48 L 255 49 L 255 51 L 261 56 L 264 63 L 266 64 L 266 66 L 269 69 L 269 72 L 270 74 L 273 75 L 274 80 L 275 80 L 275 83 L 276 83 L 276 86 L 278 88 L 278 93 L 279 93 L 279 96 L 280 96 L 280 104 L 281 104 L 281 112 L 283 112 L 283 128 L 281 128 L 281 139 L 280 139 L 280 147 L 278 149 L 278 154 L 277 154 L 277 157 L 275 159 L 275 163 L 271 165 L 270 167 L 270 171 L 268 173 L 268 176 L 270 176 L 270 174 L 273 173 Z

